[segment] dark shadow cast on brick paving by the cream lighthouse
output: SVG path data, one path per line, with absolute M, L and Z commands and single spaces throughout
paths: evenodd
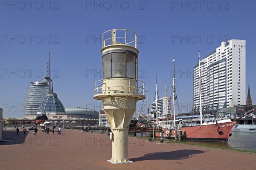
M 154 152 L 147 153 L 142 157 L 130 159 L 131 161 L 145 161 L 145 160 L 180 160 L 188 159 L 195 154 L 204 153 L 202 150 L 176 150 L 172 152 Z

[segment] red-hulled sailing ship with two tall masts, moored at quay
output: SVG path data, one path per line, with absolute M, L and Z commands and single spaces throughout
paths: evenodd
M 173 59 L 173 64 L 175 60 Z M 198 52 L 198 65 L 200 68 L 200 54 Z M 173 66 L 173 68 L 175 68 Z M 174 70 L 175 71 L 175 70 Z M 174 74 L 175 75 L 175 74 Z M 236 121 L 241 119 L 242 117 L 250 114 L 252 110 L 245 113 L 240 118 L 233 120 L 215 120 L 212 122 L 202 122 L 202 106 L 201 106 L 201 74 L 199 72 L 199 108 L 200 108 L 200 125 L 193 126 L 182 126 L 180 129 L 177 128 L 175 121 L 175 77 L 173 77 L 173 105 L 174 105 L 174 122 L 172 129 L 170 128 L 162 128 L 163 136 L 160 132 L 156 133 L 157 137 L 165 137 L 169 139 L 176 140 L 198 140 L 198 141 L 212 141 L 212 142 L 227 142 L 228 138 L 232 135 L 230 132 L 233 127 L 236 125 Z M 168 122 L 167 122 L 168 125 Z

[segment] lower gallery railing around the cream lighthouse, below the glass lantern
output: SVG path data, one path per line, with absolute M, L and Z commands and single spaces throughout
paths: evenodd
M 138 82 L 142 82 L 142 85 L 141 86 L 137 86 L 137 87 L 134 87 L 134 86 L 131 86 L 131 79 L 129 79 L 129 85 L 128 86 L 125 86 L 125 85 L 123 85 L 123 86 L 105 86 L 105 87 L 102 87 L 102 86 L 99 86 L 99 85 L 97 85 L 97 82 L 102 82 L 103 80 L 105 80 L 105 79 L 101 79 L 101 80 L 98 80 L 98 81 L 96 81 L 96 82 L 94 82 L 94 96 L 95 95 L 97 95 L 97 94 L 103 94 L 102 93 L 102 89 L 103 88 L 105 88 L 105 90 L 109 90 L 109 91 L 116 91 L 116 90 L 111 90 L 110 88 L 120 88 L 120 87 L 125 87 L 125 88 L 129 88 L 130 90 L 129 91 L 131 91 L 131 88 L 137 88 L 138 90 L 137 90 L 137 94 L 142 94 L 142 95 L 144 95 L 144 93 L 145 93 L 145 88 L 144 88 L 144 86 L 145 86 L 145 82 L 143 82 L 143 81 L 141 81 L 141 80 L 137 80 L 137 84 L 138 84 Z M 101 92 L 100 92 L 100 91 Z M 141 90 L 141 91 L 140 91 Z M 140 92 L 139 92 L 140 91 Z

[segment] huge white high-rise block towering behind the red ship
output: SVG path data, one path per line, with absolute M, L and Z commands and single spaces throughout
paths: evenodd
M 245 40 L 221 42 L 201 60 L 202 110 L 245 105 Z M 194 67 L 194 110 L 199 107 L 199 67 Z

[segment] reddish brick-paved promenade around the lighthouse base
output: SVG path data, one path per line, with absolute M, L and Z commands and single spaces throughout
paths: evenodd
M 1 142 L 0 170 L 255 170 L 256 154 L 179 143 L 159 144 L 129 137 L 132 164 L 113 165 L 109 136 L 63 129 L 49 135 L 20 130 L 3 135 L 15 142 Z

